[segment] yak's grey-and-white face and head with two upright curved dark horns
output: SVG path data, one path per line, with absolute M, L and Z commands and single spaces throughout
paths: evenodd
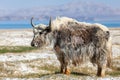
M 42 47 L 46 44 L 46 35 L 51 32 L 51 18 L 49 21 L 49 25 L 44 24 L 33 24 L 33 17 L 31 18 L 31 25 L 33 27 L 33 40 L 31 42 L 31 46 L 33 47 Z

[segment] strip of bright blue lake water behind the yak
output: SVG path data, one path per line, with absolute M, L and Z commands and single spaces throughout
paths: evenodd
M 35 24 L 48 24 L 47 21 L 34 21 Z M 92 21 L 89 23 L 101 23 L 107 27 L 120 27 L 119 21 Z M 32 28 L 30 21 L 0 21 L 0 29 L 24 29 Z

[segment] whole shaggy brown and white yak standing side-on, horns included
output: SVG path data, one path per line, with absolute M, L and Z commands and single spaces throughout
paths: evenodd
M 34 37 L 31 46 L 52 44 L 62 73 L 70 74 L 68 65 L 71 62 L 76 66 L 89 60 L 98 66 L 97 75 L 105 76 L 105 69 L 110 66 L 112 57 L 111 37 L 107 27 L 67 17 L 53 21 L 50 19 L 49 25 L 34 25 L 32 19 Z

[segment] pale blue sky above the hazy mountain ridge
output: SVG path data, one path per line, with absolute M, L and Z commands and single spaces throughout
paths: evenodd
M 40 6 L 61 5 L 76 1 L 103 3 L 113 8 L 120 8 L 120 0 L 0 0 L 0 9 L 26 9 Z

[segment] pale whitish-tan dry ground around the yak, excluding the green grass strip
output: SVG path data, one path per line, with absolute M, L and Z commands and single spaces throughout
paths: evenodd
M 87 62 L 72 66 L 70 75 L 60 74 L 60 64 L 50 47 L 22 53 L 0 54 L 0 80 L 120 80 L 120 29 L 110 29 L 113 67 L 104 78 Z M 32 30 L 0 30 L 0 46 L 30 46 Z

